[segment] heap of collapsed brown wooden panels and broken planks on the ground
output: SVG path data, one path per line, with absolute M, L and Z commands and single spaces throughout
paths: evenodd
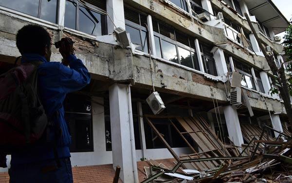
M 242 133 L 248 144 L 236 147 L 224 145 L 200 115 L 146 115 L 145 118 L 176 161 L 173 168 L 168 168 L 151 160 L 143 183 L 203 183 L 213 179 L 252 183 L 264 178 L 273 182 L 292 182 L 292 137 L 289 131 L 282 133 L 267 126 L 260 129 L 253 125 L 242 125 Z M 178 156 L 152 123 L 151 120 L 157 118 L 168 119 L 193 153 Z M 267 130 L 274 130 L 279 136 L 273 139 Z M 195 150 L 191 145 L 193 142 L 189 142 L 186 136 L 191 137 L 201 149 L 200 152 Z

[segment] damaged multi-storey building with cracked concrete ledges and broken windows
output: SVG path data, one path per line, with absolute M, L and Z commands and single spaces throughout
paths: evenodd
M 275 35 L 290 23 L 272 0 L 1 0 L 0 73 L 20 56 L 16 34 L 24 25 L 43 26 L 54 42 L 71 37 L 92 76 L 64 103 L 74 181 L 110 183 L 120 166 L 120 181 L 138 183 L 147 160 L 174 166 L 194 153 L 238 155 L 265 126 L 271 138 L 289 134 L 245 13 L 280 67 L 285 53 Z M 119 28 L 128 47 L 113 36 Z M 51 60 L 61 58 L 53 45 Z M 153 91 L 165 106 L 156 115 L 161 103 L 146 102 Z M 0 182 L 9 181 L 7 171 L 0 169 Z

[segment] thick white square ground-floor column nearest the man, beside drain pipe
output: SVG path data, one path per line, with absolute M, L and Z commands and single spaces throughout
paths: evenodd
M 128 92 L 128 86 L 124 84 L 115 83 L 109 88 L 112 164 L 114 169 L 117 165 L 121 167 L 120 178 L 124 183 L 136 183 L 136 151 L 131 148 L 135 149 L 135 145 L 131 146 L 130 135 L 130 118 L 133 116 L 129 115 L 131 98 L 128 98 Z

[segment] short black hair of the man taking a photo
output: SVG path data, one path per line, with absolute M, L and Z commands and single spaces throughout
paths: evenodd
M 51 46 L 50 34 L 41 26 L 25 25 L 16 35 L 20 54 L 43 54 L 44 47 Z

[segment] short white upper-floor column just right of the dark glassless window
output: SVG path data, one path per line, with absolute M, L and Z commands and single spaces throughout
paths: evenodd
M 220 48 L 214 47 L 211 52 L 213 53 L 213 57 L 215 59 L 215 63 L 217 66 L 218 75 L 225 75 L 228 73 L 228 68 L 225 61 L 225 56 L 223 50 Z

